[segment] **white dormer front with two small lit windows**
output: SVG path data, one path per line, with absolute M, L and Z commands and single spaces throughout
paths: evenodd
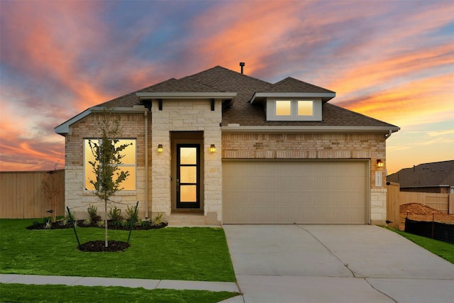
M 267 99 L 267 121 L 321 121 L 321 99 Z

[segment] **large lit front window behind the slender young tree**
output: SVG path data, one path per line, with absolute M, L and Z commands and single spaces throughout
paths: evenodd
M 113 140 L 113 139 L 112 139 Z M 126 163 L 121 163 L 121 164 L 118 164 L 118 168 L 121 168 L 121 167 L 131 167 L 131 170 L 133 170 L 133 176 L 134 176 L 134 189 L 121 189 L 121 192 L 135 192 L 137 190 L 137 138 L 115 138 L 115 140 L 118 140 L 118 143 L 121 144 L 121 141 L 132 141 L 133 145 L 132 145 L 132 148 L 134 148 L 134 163 L 133 164 L 126 164 Z M 92 166 L 89 164 L 88 160 L 92 160 L 92 155 L 91 155 L 91 158 L 87 160 L 87 151 L 89 150 L 89 152 L 91 153 L 91 150 L 88 146 L 88 142 L 89 141 L 101 141 L 101 138 L 83 138 L 82 140 L 82 150 L 83 150 L 83 171 L 84 171 L 84 177 L 83 177 L 83 184 L 82 184 L 82 187 L 84 189 L 84 192 L 87 192 L 87 193 L 92 193 L 95 191 L 95 189 L 88 189 L 87 188 L 87 182 L 89 184 L 89 180 L 87 179 L 88 176 L 87 176 L 87 165 L 89 165 L 89 168 L 90 168 L 90 171 L 91 171 L 91 168 Z M 131 170 L 130 169 L 126 169 L 128 170 L 128 172 L 131 173 Z M 131 175 L 129 176 L 131 177 Z M 91 184 L 90 184 L 91 185 Z M 120 187 L 121 187 L 121 184 L 120 184 Z

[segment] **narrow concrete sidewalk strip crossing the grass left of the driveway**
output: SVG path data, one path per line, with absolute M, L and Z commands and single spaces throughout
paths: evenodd
M 238 292 L 235 282 L 205 282 L 182 280 L 121 279 L 115 277 L 66 277 L 60 275 L 5 275 L 0 274 L 1 283 L 55 284 L 82 286 L 143 287 L 146 290 L 209 290 L 211 292 Z

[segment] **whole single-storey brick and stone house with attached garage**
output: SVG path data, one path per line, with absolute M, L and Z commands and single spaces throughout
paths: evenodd
M 109 106 L 121 143 L 133 143 L 115 201 L 139 201 L 141 217 L 382 224 L 386 139 L 399 128 L 328 103 L 335 96 L 291 77 L 272 84 L 216 66 L 93 106 L 55 128 L 65 136 L 66 204 L 82 213 L 96 202 L 87 143 Z

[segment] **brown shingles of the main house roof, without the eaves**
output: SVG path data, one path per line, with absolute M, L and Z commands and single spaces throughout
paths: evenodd
M 233 106 L 224 109 L 222 125 L 239 123 L 241 126 L 379 126 L 397 127 L 372 119 L 333 104 L 323 104 L 322 121 L 266 121 L 262 104 L 248 101 L 256 92 L 314 92 L 333 93 L 323 87 L 302 82 L 292 77 L 271 84 L 263 80 L 243 75 L 225 67 L 216 66 L 181 79 L 168 79 L 164 82 L 139 89 L 101 105 L 133 106 L 140 104 L 137 92 L 237 92 Z

